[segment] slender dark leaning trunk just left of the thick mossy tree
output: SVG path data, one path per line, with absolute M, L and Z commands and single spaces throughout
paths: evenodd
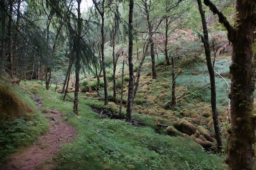
M 215 87 L 215 75 L 213 70 L 213 65 L 211 64 L 211 50 L 209 45 L 209 38 L 208 38 L 208 30 L 207 30 L 207 22 L 205 20 L 204 11 L 202 9 L 202 2 L 201 0 L 198 0 L 198 8 L 201 14 L 202 18 L 202 26 L 203 26 L 203 32 L 204 36 L 202 36 L 202 42 L 204 43 L 204 51 L 205 51 L 205 57 L 207 62 L 207 68 L 210 75 L 210 83 L 211 83 L 211 110 L 213 114 L 213 125 L 214 130 L 216 134 L 216 140 L 217 140 L 217 152 L 221 152 L 222 147 L 222 140 L 220 136 L 220 128 L 218 124 L 218 114 L 217 114 L 217 108 L 216 108 L 216 87 Z

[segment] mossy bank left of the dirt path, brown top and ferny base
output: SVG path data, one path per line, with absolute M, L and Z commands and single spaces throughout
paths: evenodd
M 22 85 L 21 85 L 22 86 Z M 32 144 L 48 130 L 38 112 L 34 96 L 26 88 L 12 87 L 0 80 L 0 166 L 20 147 Z

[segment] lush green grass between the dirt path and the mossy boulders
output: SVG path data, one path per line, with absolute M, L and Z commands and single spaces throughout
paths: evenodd
M 72 102 L 61 102 L 58 93 L 38 92 L 43 104 L 69 116 L 68 123 L 77 135 L 71 144 L 54 156 L 56 170 L 222 170 L 227 168 L 223 157 L 204 152 L 191 139 L 170 137 L 155 133 L 150 126 L 132 126 L 130 123 L 101 119 L 90 106 L 101 107 L 102 101 L 79 98 L 79 116 L 72 113 Z M 90 105 L 90 106 L 88 106 Z M 152 120 L 141 117 L 149 125 Z M 47 163 L 47 162 L 45 162 Z

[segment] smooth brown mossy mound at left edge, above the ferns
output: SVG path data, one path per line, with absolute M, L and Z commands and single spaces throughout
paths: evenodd
M 8 84 L 0 82 L 0 123 L 34 113 L 33 108 L 20 99 L 12 88 Z

